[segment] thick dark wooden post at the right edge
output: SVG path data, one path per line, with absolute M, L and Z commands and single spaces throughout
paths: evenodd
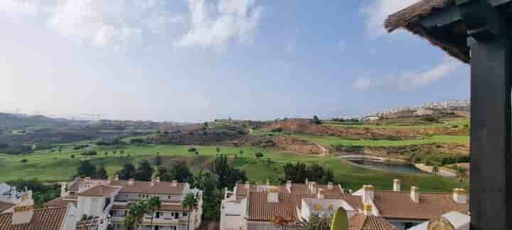
M 471 44 L 471 230 L 512 229 L 510 56 L 508 38 Z

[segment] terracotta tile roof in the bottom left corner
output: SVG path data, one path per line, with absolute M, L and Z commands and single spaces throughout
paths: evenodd
M 51 207 L 35 209 L 30 222 L 27 224 L 11 225 L 12 213 L 0 214 L 0 229 L 2 230 L 60 230 L 68 207 Z

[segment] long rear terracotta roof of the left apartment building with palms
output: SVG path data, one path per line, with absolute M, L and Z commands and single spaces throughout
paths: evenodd
M 182 195 L 186 183 L 177 183 L 176 187 L 173 187 L 172 182 L 154 182 L 154 186 L 151 186 L 149 181 L 134 181 L 133 185 L 128 185 L 127 180 L 117 180 L 110 182 L 109 185 L 122 186 L 120 193 Z

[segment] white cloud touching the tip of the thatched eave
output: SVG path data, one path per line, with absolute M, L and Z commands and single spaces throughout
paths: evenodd
M 370 4 L 363 6 L 366 34 L 371 38 L 385 34 L 385 18 L 416 2 L 417 0 L 372 0 Z

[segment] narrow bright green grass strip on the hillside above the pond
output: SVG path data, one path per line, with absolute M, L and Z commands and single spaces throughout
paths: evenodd
M 432 136 L 420 139 L 404 140 L 404 141 L 387 141 L 387 140 L 347 140 L 336 136 L 306 136 L 293 135 L 307 141 L 319 143 L 322 146 L 343 145 L 343 146 L 373 146 L 373 147 L 390 147 L 390 146 L 411 146 L 427 143 L 461 143 L 468 144 L 469 136 Z

